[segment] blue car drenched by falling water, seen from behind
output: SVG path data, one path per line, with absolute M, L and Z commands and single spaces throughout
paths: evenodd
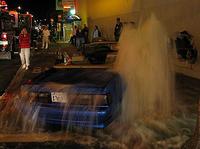
M 106 69 L 52 68 L 22 85 L 21 93 L 46 124 L 105 128 L 120 113 L 122 82 Z

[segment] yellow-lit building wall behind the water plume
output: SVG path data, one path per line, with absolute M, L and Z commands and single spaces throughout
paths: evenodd
M 115 20 L 141 22 L 154 13 L 170 37 L 188 30 L 200 48 L 199 0 L 78 0 L 80 16 L 88 22 L 90 31 L 98 25 L 107 39 L 113 39 Z

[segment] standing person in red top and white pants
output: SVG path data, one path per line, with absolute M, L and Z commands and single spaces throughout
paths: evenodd
M 19 34 L 19 48 L 22 68 L 28 70 L 30 65 L 30 35 L 24 27 Z

